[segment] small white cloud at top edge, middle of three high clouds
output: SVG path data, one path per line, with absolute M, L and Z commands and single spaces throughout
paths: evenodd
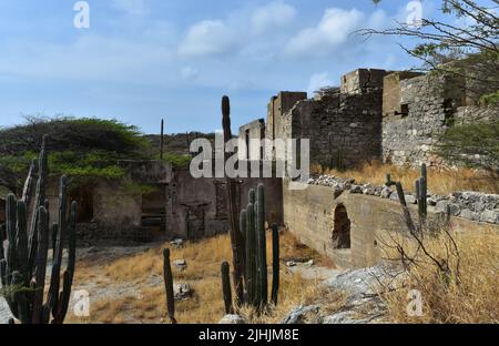
M 296 18 L 296 9 L 283 1 L 274 1 L 255 9 L 252 14 L 253 31 L 257 34 L 268 29 L 283 27 Z

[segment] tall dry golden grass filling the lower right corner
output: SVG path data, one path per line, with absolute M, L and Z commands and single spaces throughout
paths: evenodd
M 450 284 L 445 284 L 435 264 L 419 252 L 416 258 L 422 263 L 411 267 L 407 285 L 385 295 L 393 323 L 499 323 L 499 234 L 490 230 L 452 237 L 460 253 L 459 279 L 451 275 Z M 446 235 L 427 237 L 425 245 L 441 260 L 447 257 L 448 240 Z M 410 245 L 406 243 L 407 248 Z M 450 265 L 455 266 L 456 261 L 451 258 Z M 421 293 L 420 317 L 407 314 L 410 289 Z

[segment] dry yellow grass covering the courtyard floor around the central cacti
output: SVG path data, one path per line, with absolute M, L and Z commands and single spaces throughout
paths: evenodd
M 268 255 L 271 255 L 271 238 L 268 237 Z M 140 294 L 115 299 L 103 298 L 91 301 L 90 319 L 79 319 L 69 315 L 72 323 L 163 323 L 166 318 L 166 299 L 162 281 L 162 248 L 159 246 L 146 252 L 126 256 L 110 263 L 78 264 L 75 286 L 93 282 L 101 285 L 116 283 L 132 284 L 139 287 Z M 317 264 L 328 265 L 329 262 L 316 252 L 301 245 L 289 233 L 281 235 L 282 262 L 289 257 L 314 258 Z M 189 283 L 193 289 L 190 299 L 175 303 L 175 317 L 179 323 L 217 323 L 224 315 L 220 266 L 223 261 L 231 263 L 231 245 L 227 235 L 216 236 L 198 243 L 187 243 L 183 248 L 171 248 L 171 260 L 183 258 L 187 268 L 179 272 L 173 268 L 176 283 Z M 269 257 L 272 258 L 272 257 Z M 104 260 L 105 261 L 105 260 Z M 151 277 L 156 277 L 151 285 Z M 157 279 L 161 277 L 161 279 Z M 281 289 L 277 308 L 264 317 L 251 312 L 245 313 L 252 322 L 277 322 L 293 306 L 307 303 L 312 296 L 319 295 L 317 284 L 305 281 L 299 275 L 287 273 L 282 264 Z

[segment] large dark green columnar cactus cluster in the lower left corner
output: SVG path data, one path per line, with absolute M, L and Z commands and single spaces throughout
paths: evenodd
M 49 226 L 49 202 L 45 200 L 48 176 L 47 136 L 43 138 L 38 163 L 33 162 L 24 184 L 23 196 L 9 194 L 6 203 L 7 251 L 0 251 L 0 276 L 6 301 L 12 315 L 22 324 L 62 324 L 71 295 L 77 251 L 77 203 L 68 213 L 67 177 L 59 190 L 58 223 Z M 37 166 L 38 164 L 38 166 Z M 30 203 L 33 175 L 38 172 L 34 201 Z M 30 210 L 29 206 L 32 205 Z M 68 215 L 69 214 L 69 215 Z M 30 220 L 30 223 L 28 221 Z M 52 234 L 52 242 L 50 241 Z M 68 265 L 62 276 L 64 242 L 68 242 Z M 49 246 L 53 250 L 50 286 L 44 299 Z M 13 320 L 11 320 L 13 323 Z

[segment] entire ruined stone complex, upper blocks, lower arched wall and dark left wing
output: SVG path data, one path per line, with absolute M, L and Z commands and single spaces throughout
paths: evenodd
M 255 139 L 309 139 L 312 163 L 340 169 L 373 160 L 441 165 L 445 162 L 432 149 L 446 129 L 499 118 L 497 106 L 477 105 L 460 84 L 462 81 L 442 75 L 359 69 L 345 74 L 339 86 L 325 88 L 312 99 L 306 92 L 279 92 L 268 102 L 266 118 L 240 128 L 238 141 L 247 145 Z M 267 147 L 247 146 L 237 152 L 240 163 L 261 164 Z M 266 154 L 282 159 L 272 149 Z M 224 179 L 194 179 L 189 169 L 161 161 L 120 164 L 125 167 L 126 182 L 152 189 L 141 191 L 123 181 L 95 180 L 73 190 L 71 199 L 80 211 L 80 241 L 197 240 L 230 230 Z M 356 185 L 348 180 L 312 181 L 308 189 L 293 191 L 287 179 L 241 177 L 237 207 L 247 204 L 249 189 L 263 183 L 268 223 L 285 225 L 302 243 L 328 255 L 340 267 L 378 261 L 379 234 L 404 227 L 396 194 L 386 186 Z M 51 215 L 57 215 L 57 195 L 58 182 L 53 180 L 48 189 Z M 456 192 L 431 199 L 428 213 L 438 217 L 450 206 L 457 228 L 469 228 L 471 223 L 473 227 L 499 227 L 498 195 Z M 0 200 L 0 223 L 4 218 L 2 203 Z M 417 212 L 415 205 L 409 208 Z

